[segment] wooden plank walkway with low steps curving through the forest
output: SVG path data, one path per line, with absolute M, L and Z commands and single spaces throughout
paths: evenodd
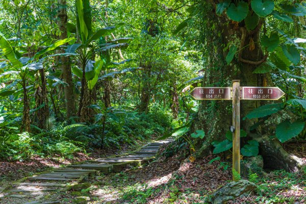
M 48 171 L 24 177 L 16 182 L 0 187 L 0 202 L 3 204 L 39 204 L 39 203 L 87 203 L 91 198 L 73 193 L 86 191 L 88 183 L 103 178 L 104 174 L 121 172 L 125 168 L 142 165 L 154 160 L 159 147 L 172 140 L 150 142 L 131 154 L 117 157 L 86 160 L 53 168 Z M 67 192 L 72 191 L 71 193 Z

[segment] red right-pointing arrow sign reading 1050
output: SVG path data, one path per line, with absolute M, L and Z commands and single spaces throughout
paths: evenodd
M 278 87 L 242 87 L 242 98 L 246 100 L 278 100 L 285 93 Z

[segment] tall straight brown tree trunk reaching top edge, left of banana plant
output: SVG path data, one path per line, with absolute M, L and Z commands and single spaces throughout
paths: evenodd
M 61 31 L 60 39 L 67 38 L 67 5 L 66 0 L 58 0 L 58 26 Z M 64 50 L 62 50 L 64 53 Z M 63 80 L 67 83 L 64 86 L 65 105 L 66 105 L 66 118 L 70 118 L 75 114 L 74 95 L 72 72 L 69 63 L 69 57 L 61 57 L 61 67 L 63 72 Z

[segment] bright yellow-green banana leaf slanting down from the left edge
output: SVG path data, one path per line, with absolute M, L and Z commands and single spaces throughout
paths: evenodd
M 22 67 L 22 63 L 18 60 L 18 57 L 9 43 L 9 41 L 0 32 L 0 48 L 3 50 L 3 55 L 12 63 L 16 68 Z

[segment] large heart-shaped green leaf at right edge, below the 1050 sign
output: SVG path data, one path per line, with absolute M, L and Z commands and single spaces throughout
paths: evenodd
M 295 121 L 290 123 L 289 120 L 285 120 L 284 122 L 280 123 L 276 127 L 276 137 L 279 141 L 286 142 L 291 138 L 297 136 L 302 132 L 304 129 L 305 122 L 303 121 Z

